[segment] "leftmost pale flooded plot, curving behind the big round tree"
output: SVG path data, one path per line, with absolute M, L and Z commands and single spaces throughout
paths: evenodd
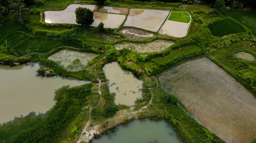
M 61 11 L 44 11 L 44 22 L 77 24 L 75 10 L 78 7 L 89 8 L 92 11 L 94 11 L 97 8 L 97 6 L 95 5 L 71 4 L 67 6 L 66 9 Z

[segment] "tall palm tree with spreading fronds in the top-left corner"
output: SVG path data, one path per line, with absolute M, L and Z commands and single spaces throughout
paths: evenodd
M 28 8 L 26 8 L 26 4 L 23 3 L 23 0 L 10 0 L 10 14 L 13 14 L 13 20 L 17 18 L 22 24 L 24 24 L 25 14 L 28 14 Z

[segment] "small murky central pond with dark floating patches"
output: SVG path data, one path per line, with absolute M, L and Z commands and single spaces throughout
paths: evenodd
M 133 106 L 142 97 L 143 81 L 138 80 L 130 71 L 122 70 L 117 62 L 103 67 L 110 93 L 115 94 L 116 104 Z

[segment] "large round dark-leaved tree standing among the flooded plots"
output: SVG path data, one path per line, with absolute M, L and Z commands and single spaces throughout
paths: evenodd
M 76 8 L 76 23 L 81 25 L 91 25 L 93 20 L 93 11 L 87 8 Z

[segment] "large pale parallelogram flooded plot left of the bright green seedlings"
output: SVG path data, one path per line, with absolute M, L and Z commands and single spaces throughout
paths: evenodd
M 133 26 L 150 31 L 158 31 L 169 11 L 131 8 L 124 26 Z

